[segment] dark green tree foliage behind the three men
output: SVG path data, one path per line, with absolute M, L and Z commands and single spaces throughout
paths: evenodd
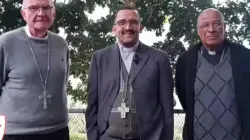
M 0 2 L 0 33 L 25 25 L 21 19 L 20 4 L 19 0 Z M 59 28 L 64 29 L 72 46 L 71 75 L 81 80 L 76 89 L 69 87 L 69 94 L 75 100 L 86 102 L 90 57 L 93 51 L 115 42 L 111 34 L 114 14 L 123 4 L 123 0 L 68 0 L 67 3 L 56 4 L 57 17 L 51 30 L 59 32 Z M 86 13 L 92 13 L 97 6 L 108 7 L 109 14 L 93 21 Z M 206 8 L 215 7 L 222 11 L 228 25 L 228 39 L 238 43 L 250 41 L 250 5 L 247 1 L 228 0 L 223 5 L 214 5 L 212 0 L 137 0 L 136 7 L 142 24 L 147 30 L 155 31 L 157 36 L 162 35 L 165 22 L 170 24 L 165 40 L 154 43 L 153 47 L 168 52 L 173 72 L 176 58 L 185 51 L 180 39 L 188 44 L 199 41 L 196 21 L 198 14 Z

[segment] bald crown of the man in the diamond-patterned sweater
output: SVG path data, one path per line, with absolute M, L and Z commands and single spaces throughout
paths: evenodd
M 220 17 L 221 19 L 221 22 L 224 23 L 225 22 L 225 18 L 224 16 L 222 15 L 222 13 L 218 10 L 218 9 L 215 9 L 215 8 L 208 8 L 208 9 L 205 9 L 204 11 L 202 11 L 199 16 L 198 16 L 198 19 L 197 19 L 197 27 L 200 25 L 201 23 L 201 20 L 203 19 L 203 17 L 207 16 L 207 15 L 210 15 L 210 14 L 215 14 L 217 16 Z

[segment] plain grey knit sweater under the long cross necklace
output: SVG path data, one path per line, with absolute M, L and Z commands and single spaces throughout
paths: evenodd
M 51 49 L 47 109 L 43 86 L 29 42 L 43 79 L 47 73 L 47 47 Z M 50 45 L 49 45 L 50 44 Z M 24 27 L 0 36 L 0 114 L 6 116 L 8 135 L 46 134 L 68 125 L 68 45 L 55 33 L 48 40 L 30 38 Z

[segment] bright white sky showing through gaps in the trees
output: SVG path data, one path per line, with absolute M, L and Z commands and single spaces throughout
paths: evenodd
M 58 2 L 63 2 L 64 0 L 57 0 Z M 66 0 L 67 1 L 67 0 Z M 218 3 L 224 3 L 226 2 L 226 0 L 213 0 L 213 2 L 215 4 L 218 4 Z M 92 13 L 92 14 L 89 14 L 89 13 L 86 13 L 88 15 L 88 17 L 92 20 L 98 20 L 100 19 L 101 17 L 105 17 L 109 12 L 109 9 L 108 8 L 102 8 L 102 7 L 96 7 L 95 11 Z M 165 31 L 163 32 L 163 34 L 161 36 L 156 36 L 155 32 L 154 31 L 147 31 L 146 29 L 144 29 L 142 31 L 142 33 L 140 34 L 140 41 L 143 42 L 144 44 L 147 44 L 149 46 L 153 45 L 153 43 L 155 42 L 158 42 L 158 41 L 164 41 L 165 39 L 165 36 L 169 30 L 169 24 L 165 24 L 163 26 L 163 28 L 165 29 Z M 65 33 L 63 30 L 60 31 L 59 33 L 61 36 L 63 36 L 64 38 L 66 37 Z M 243 42 L 243 44 L 250 48 L 248 42 Z M 187 44 L 186 44 L 186 47 L 187 47 Z M 72 81 L 73 82 L 73 81 Z M 74 80 L 73 82 L 73 86 L 74 85 L 77 85 L 77 80 Z M 174 95 L 174 98 L 177 100 L 177 104 L 175 106 L 175 109 L 181 109 L 181 105 L 180 105 L 180 102 L 177 98 L 176 95 Z

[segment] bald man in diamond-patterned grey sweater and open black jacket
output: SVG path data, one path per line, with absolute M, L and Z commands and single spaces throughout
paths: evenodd
M 181 54 L 176 91 L 186 113 L 184 140 L 250 139 L 250 51 L 225 39 L 220 11 L 204 10 L 201 43 Z

